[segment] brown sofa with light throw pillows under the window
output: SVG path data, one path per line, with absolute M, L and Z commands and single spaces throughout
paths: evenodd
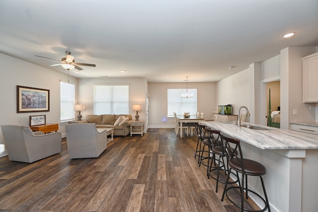
M 124 117 L 126 119 L 121 120 L 120 117 Z M 113 128 L 114 136 L 127 136 L 128 134 L 130 134 L 131 120 L 132 120 L 131 115 L 104 114 L 104 115 L 87 115 L 86 120 L 76 121 L 76 123 L 94 123 L 96 124 L 96 128 Z

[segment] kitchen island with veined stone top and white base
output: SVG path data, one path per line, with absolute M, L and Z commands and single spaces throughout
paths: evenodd
M 249 124 L 263 129 L 238 127 L 234 122 L 200 123 L 243 141 L 241 146 L 244 157 L 266 167 L 263 178 L 271 211 L 317 211 L 317 135 L 249 123 L 242 125 Z M 263 194 L 257 177 L 248 178 L 248 187 Z

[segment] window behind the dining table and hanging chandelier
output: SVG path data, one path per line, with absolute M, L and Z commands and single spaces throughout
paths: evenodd
M 196 114 L 197 112 L 197 89 L 188 88 L 188 93 L 193 93 L 192 98 L 181 98 L 181 93 L 186 93 L 186 89 L 168 88 L 168 117 L 173 117 L 173 112 L 177 115 L 183 115 L 184 112 Z

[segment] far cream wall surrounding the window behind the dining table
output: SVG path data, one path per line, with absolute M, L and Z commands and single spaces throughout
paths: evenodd
M 215 82 L 189 82 L 189 88 L 197 88 L 198 111 L 204 113 L 204 118 L 212 118 L 212 111 L 217 110 Z M 167 117 L 167 88 L 185 88 L 185 83 L 148 83 L 149 92 L 149 125 L 151 128 L 174 127 L 174 119 Z

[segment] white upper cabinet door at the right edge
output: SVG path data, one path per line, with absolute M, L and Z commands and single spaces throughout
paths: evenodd
M 303 58 L 304 102 L 318 102 L 318 53 Z

